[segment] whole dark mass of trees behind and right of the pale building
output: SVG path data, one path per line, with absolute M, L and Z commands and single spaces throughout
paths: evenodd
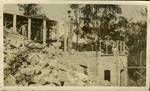
M 133 21 L 121 16 L 119 5 L 81 5 L 81 35 L 89 40 L 122 40 L 128 50 L 128 66 L 146 65 L 147 9 L 139 11 L 142 20 Z M 98 50 L 96 48 L 96 50 Z M 129 85 L 143 86 L 146 82 L 145 69 L 129 70 Z

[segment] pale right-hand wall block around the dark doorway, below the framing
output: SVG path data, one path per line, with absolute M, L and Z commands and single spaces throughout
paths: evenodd
M 117 62 L 118 61 L 118 62 Z M 127 57 L 119 56 L 115 58 L 114 56 L 102 56 L 98 58 L 98 83 L 99 85 L 105 85 L 104 71 L 110 70 L 110 84 L 112 86 L 120 86 L 127 84 Z M 120 75 L 122 70 L 122 75 Z M 122 76 L 122 77 L 121 77 Z M 122 80 L 120 80 L 122 78 Z M 124 81 L 121 82 L 120 81 Z M 124 84 L 123 84 L 124 83 Z

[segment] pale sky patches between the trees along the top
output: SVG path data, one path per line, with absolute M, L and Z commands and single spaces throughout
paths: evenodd
M 43 12 L 52 20 L 61 20 L 67 16 L 67 11 L 70 10 L 68 4 L 42 4 Z M 128 19 L 140 20 L 141 17 L 138 11 L 145 8 L 142 5 L 121 5 L 122 15 Z M 18 13 L 17 5 L 4 5 L 4 11 L 10 13 Z

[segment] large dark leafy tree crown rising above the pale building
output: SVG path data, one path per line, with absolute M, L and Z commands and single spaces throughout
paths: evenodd
M 117 14 L 121 13 L 121 8 L 118 5 L 85 5 L 82 13 L 85 26 L 87 28 L 91 26 L 98 37 L 107 39 L 117 28 Z

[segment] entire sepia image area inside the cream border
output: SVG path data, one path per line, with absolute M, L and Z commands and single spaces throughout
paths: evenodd
M 4 4 L 4 86 L 146 86 L 147 6 Z

